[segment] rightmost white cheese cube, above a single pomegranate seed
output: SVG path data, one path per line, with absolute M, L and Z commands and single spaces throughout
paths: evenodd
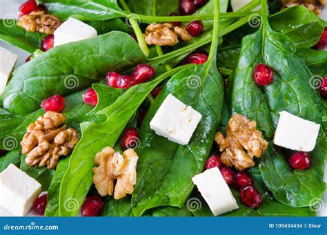
M 299 118 L 286 111 L 281 111 L 279 115 L 274 144 L 297 151 L 313 151 L 320 124 Z

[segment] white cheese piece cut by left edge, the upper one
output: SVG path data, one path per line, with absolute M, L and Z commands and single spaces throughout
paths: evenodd
M 0 95 L 3 93 L 12 69 L 17 62 L 17 55 L 0 47 Z

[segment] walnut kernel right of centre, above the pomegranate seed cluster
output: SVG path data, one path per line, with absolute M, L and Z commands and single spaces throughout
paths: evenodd
M 243 115 L 232 115 L 226 128 L 226 138 L 221 132 L 215 135 L 219 151 L 222 152 L 221 162 L 237 170 L 255 165 L 253 157 L 261 157 L 268 147 L 268 142 L 262 138 L 261 131 L 255 129 L 256 126 L 257 122 L 250 122 Z

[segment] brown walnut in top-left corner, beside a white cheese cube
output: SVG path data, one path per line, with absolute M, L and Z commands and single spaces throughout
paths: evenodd
M 28 32 L 42 32 L 52 35 L 61 24 L 61 21 L 54 15 L 48 15 L 43 10 L 30 12 L 23 15 L 18 21 L 18 26 Z

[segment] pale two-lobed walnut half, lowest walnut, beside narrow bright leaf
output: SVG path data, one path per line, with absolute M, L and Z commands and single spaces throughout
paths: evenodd
M 120 154 L 106 147 L 95 156 L 93 183 L 101 196 L 114 194 L 116 200 L 132 194 L 137 178 L 137 160 L 139 157 L 133 149 Z M 116 182 L 114 193 L 114 182 Z

